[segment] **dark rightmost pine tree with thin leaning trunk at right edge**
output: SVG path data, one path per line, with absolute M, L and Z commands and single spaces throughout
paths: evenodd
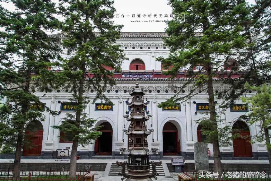
M 236 100 L 240 99 L 241 96 L 247 94 L 251 89 L 257 90 L 262 89 L 262 85 L 265 82 L 269 82 L 271 78 L 271 7 L 269 0 L 259 0 L 256 1 L 255 5 L 248 7 L 250 13 L 248 13 L 240 23 L 243 27 L 243 36 L 246 37 L 246 43 L 249 46 L 246 46 L 242 51 L 238 52 L 238 56 L 235 56 L 235 64 L 238 69 L 235 69 L 234 73 L 240 74 L 240 77 L 233 78 L 231 74 L 228 77 L 225 77 L 224 84 L 229 85 L 230 88 L 226 92 L 220 92 L 218 94 L 219 99 L 224 100 L 224 107 L 229 107 Z M 256 86 L 256 87 L 254 87 Z M 261 96 L 260 92 L 257 95 Z M 258 105 L 258 104 L 257 104 Z M 252 113 L 249 115 L 255 114 L 254 108 Z M 262 119 L 255 119 L 254 121 L 250 120 L 252 116 L 240 116 L 239 119 L 247 120 L 247 123 L 253 123 L 254 121 L 258 123 L 266 136 L 266 145 L 269 154 L 269 163 L 271 171 L 271 150 L 269 148 L 269 129 L 268 120 L 265 120 L 263 116 Z M 264 125 L 264 126 L 263 126 Z M 262 138 L 262 137 L 261 137 Z M 256 136 L 256 140 L 260 139 Z

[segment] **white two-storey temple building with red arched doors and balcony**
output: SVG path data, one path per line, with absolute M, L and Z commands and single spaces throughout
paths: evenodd
M 176 104 L 174 107 L 158 108 L 157 105 L 170 98 L 178 91 L 176 86 L 180 86 L 187 79 L 186 71 L 180 71 L 174 82 L 169 81 L 161 74 L 161 62 L 155 61 L 159 56 L 167 57 L 169 51 L 163 46 L 162 37 L 166 36 L 164 32 L 123 32 L 117 43 L 121 44 L 122 49 L 129 58 L 122 64 L 121 73 L 114 73 L 116 86 L 108 87 L 105 95 L 115 105 L 89 104 L 85 109 L 91 118 L 97 120 L 95 127 L 104 125 L 101 129 L 102 135 L 86 147 L 78 146 L 79 159 L 121 159 L 119 148 L 128 147 L 128 136 L 122 131 L 129 127 L 130 122 L 123 117 L 126 115 L 128 106 L 127 98 L 131 99 L 128 90 L 135 87 L 138 83 L 144 90 L 148 90 L 145 98 L 150 101 L 146 111 L 150 111 L 152 117 L 146 121 L 147 129 L 153 129 L 154 132 L 148 137 L 149 148 L 158 148 L 158 154 L 151 156 L 153 159 L 163 159 L 170 155 L 183 156 L 185 159 L 194 159 L 194 143 L 204 141 L 204 135 L 201 135 L 200 128 L 195 120 L 202 118 L 201 112 L 208 111 L 208 95 L 206 91 L 200 91 L 199 94 L 183 103 Z M 65 52 L 65 49 L 64 49 Z M 110 67 L 108 67 L 110 68 Z M 195 67 L 197 68 L 197 67 Z M 112 70 L 113 71 L 113 70 Z M 186 87 L 182 94 L 188 94 L 191 87 Z M 214 81 L 214 91 L 220 92 L 227 90 L 226 86 L 221 86 L 219 81 Z M 96 95 L 95 91 L 89 91 L 90 99 Z M 73 113 L 73 110 L 65 106 L 72 98 L 70 93 L 65 90 L 55 90 L 51 93 L 36 92 L 41 102 L 45 103 L 51 110 L 59 112 L 59 115 L 52 116 L 44 111 L 45 121 L 37 121 L 39 131 L 35 139 L 37 147 L 31 150 L 23 150 L 23 158 L 43 158 L 53 159 L 66 155 L 71 151 L 72 142 L 59 139 L 61 133 L 53 129 L 52 125 L 61 124 L 61 119 L 65 113 Z M 216 100 L 217 105 L 221 100 Z M 218 108 L 218 106 L 217 106 Z M 249 108 L 248 108 L 249 109 Z M 218 109 L 219 110 L 219 109 Z M 245 122 L 236 121 L 236 119 L 247 113 L 247 107 L 242 105 L 242 101 L 236 101 L 236 105 L 226 110 L 226 114 L 221 115 L 225 121 L 218 126 L 231 125 L 234 128 L 243 129 L 242 135 L 255 135 L 259 128 L 257 125 L 250 125 L 248 128 Z M 246 128 L 246 129 L 244 129 Z M 210 159 L 212 159 L 212 144 L 208 144 L 210 150 Z M 61 151 L 62 154 L 60 153 Z M 268 159 L 268 154 L 264 143 L 250 144 L 245 139 L 237 138 L 233 141 L 233 146 L 221 147 L 222 159 Z M 103 155 L 103 156 L 100 156 Z M 11 157 L 11 155 L 1 155 Z

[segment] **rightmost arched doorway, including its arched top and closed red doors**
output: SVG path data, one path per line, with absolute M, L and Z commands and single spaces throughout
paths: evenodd
M 240 130 L 240 136 L 232 141 L 235 157 L 252 157 L 252 148 L 250 141 L 250 130 L 243 121 L 236 121 L 232 129 Z M 246 137 L 242 139 L 241 137 Z

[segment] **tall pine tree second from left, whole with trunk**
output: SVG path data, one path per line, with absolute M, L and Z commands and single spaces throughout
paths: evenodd
M 87 130 L 95 120 L 84 113 L 89 98 L 84 91 L 93 89 L 97 99 L 105 100 L 103 92 L 107 85 L 114 86 L 113 72 L 103 66 L 120 71 L 125 59 L 116 39 L 120 38 L 122 25 L 114 25 L 111 19 L 116 11 L 110 0 L 62 0 L 61 13 L 65 21 L 62 25 L 63 46 L 68 58 L 62 58 L 62 70 L 59 73 L 59 86 L 64 86 L 73 95 L 77 103 L 75 115 L 68 114 L 67 120 L 58 128 L 64 134 L 73 133 L 73 145 L 70 161 L 70 178 L 75 178 L 78 144 L 91 144 L 99 132 Z M 94 32 L 97 31 L 97 32 Z M 86 73 L 87 72 L 87 73 Z M 93 77 L 89 77 L 90 72 Z M 69 124 L 67 124 L 69 123 Z

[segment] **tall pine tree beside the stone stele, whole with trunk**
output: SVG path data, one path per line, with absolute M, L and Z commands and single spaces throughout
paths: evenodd
M 179 70 L 187 69 L 188 81 L 182 82 L 179 92 L 166 102 L 159 105 L 173 104 L 197 95 L 195 90 L 207 90 L 209 102 L 209 118 L 204 121 L 205 129 L 212 134 L 210 142 L 214 150 L 215 171 L 221 175 L 221 158 L 218 131 L 218 120 L 215 110 L 215 94 L 213 78 L 223 64 L 225 57 L 234 54 L 234 49 L 244 47 L 242 28 L 238 25 L 240 18 L 247 14 L 245 1 L 206 1 L 206 0 L 169 0 L 177 21 L 170 21 L 166 32 L 169 37 L 164 39 L 165 46 L 170 48 L 168 58 L 159 57 L 164 71 L 171 78 L 178 75 Z M 179 17 L 184 17 L 180 18 Z M 179 21 L 180 20 L 180 21 Z M 195 67 L 198 70 L 195 71 Z M 186 96 L 179 93 L 186 87 L 193 87 L 193 92 Z M 206 87 L 206 88 L 204 88 Z M 204 89 L 203 89 L 204 88 Z

